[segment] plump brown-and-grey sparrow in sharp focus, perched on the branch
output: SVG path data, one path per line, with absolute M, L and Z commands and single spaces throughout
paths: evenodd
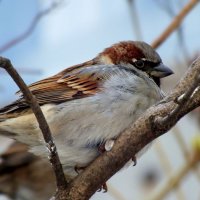
M 123 41 L 94 59 L 29 85 L 50 126 L 65 174 L 86 167 L 99 146 L 116 139 L 164 94 L 160 79 L 173 71 L 141 41 Z M 24 99 L 0 109 L 0 134 L 47 158 L 40 128 Z

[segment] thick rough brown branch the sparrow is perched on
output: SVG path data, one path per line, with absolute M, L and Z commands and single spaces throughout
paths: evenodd
M 176 99 L 186 90 L 193 87 L 194 78 L 200 74 L 200 58 L 189 68 L 186 76 L 179 82 L 174 91 L 160 104 L 149 108 L 130 128 L 126 129 L 116 140 L 113 149 L 99 156 L 81 173 L 63 193 L 57 193 L 56 199 L 87 200 L 112 175 L 119 171 L 145 145 L 166 133 L 178 120 L 191 110 L 200 106 L 200 90 L 187 99 L 166 124 L 157 123 L 160 117 L 165 118 L 176 109 Z M 196 80 L 195 80 L 196 81 Z

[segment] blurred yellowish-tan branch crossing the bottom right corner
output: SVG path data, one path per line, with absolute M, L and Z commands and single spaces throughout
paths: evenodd
M 183 178 L 199 164 L 200 161 L 200 152 L 195 152 L 195 155 L 192 156 L 187 163 L 185 163 L 176 173 L 172 174 L 167 182 L 159 189 L 158 193 L 153 195 L 153 197 L 148 200 L 161 200 L 164 199 L 171 190 L 173 190 L 177 185 L 181 183 Z

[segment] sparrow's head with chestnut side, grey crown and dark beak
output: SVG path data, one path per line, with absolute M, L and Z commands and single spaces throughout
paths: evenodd
M 160 78 L 173 74 L 173 71 L 162 63 L 158 53 L 145 42 L 120 42 L 106 48 L 97 58 L 104 64 L 131 64 L 146 72 L 158 85 Z

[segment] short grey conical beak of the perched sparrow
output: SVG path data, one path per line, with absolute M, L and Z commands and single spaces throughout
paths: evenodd
M 169 67 L 165 66 L 163 63 L 160 63 L 158 66 L 153 68 L 151 71 L 151 76 L 163 78 L 173 73 L 174 72 Z

